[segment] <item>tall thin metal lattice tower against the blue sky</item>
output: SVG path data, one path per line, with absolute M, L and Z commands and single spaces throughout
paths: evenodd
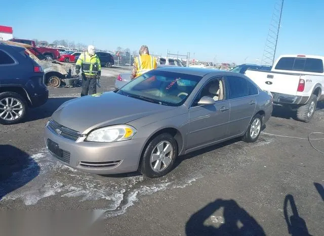
M 284 0 L 276 1 L 262 57 L 262 62 L 264 65 L 272 66 L 274 62 L 281 22 L 282 7 L 284 7 Z

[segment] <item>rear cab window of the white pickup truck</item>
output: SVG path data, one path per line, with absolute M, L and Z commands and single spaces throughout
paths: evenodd
M 275 66 L 277 70 L 295 70 L 323 73 L 323 61 L 316 58 L 282 57 Z

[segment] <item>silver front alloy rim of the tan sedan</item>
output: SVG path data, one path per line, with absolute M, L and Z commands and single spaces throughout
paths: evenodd
M 172 161 L 173 147 L 170 142 L 159 142 L 152 151 L 150 165 L 153 171 L 161 172 L 168 168 Z

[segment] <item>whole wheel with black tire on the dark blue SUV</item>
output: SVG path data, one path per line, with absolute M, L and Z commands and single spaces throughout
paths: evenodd
M 11 105 L 11 106 L 13 108 L 16 108 L 16 109 L 10 109 L 11 112 L 5 112 L 5 108 L 8 109 L 7 99 L 8 99 L 9 104 L 11 104 L 11 101 L 13 101 L 13 105 Z M 19 103 L 20 103 L 20 105 L 17 105 Z M 13 125 L 13 124 L 17 124 L 17 123 L 21 122 L 27 114 L 27 109 L 28 109 L 27 101 L 20 94 L 14 93 L 14 92 L 0 93 L 0 124 Z M 4 114 L 2 115 L 2 113 L 4 113 Z M 5 119 L 5 116 L 7 114 L 8 114 L 8 116 Z M 12 114 L 14 114 L 14 115 L 17 114 L 17 115 L 15 115 L 17 117 L 15 118 Z M 15 118 L 15 119 L 10 120 L 9 116 L 11 118 Z

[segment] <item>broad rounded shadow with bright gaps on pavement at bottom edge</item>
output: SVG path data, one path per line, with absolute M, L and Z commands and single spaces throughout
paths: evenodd
M 223 216 L 213 215 L 223 209 Z M 204 223 L 208 222 L 208 225 Z M 234 200 L 217 199 L 194 213 L 186 235 L 265 235 L 261 225 Z

